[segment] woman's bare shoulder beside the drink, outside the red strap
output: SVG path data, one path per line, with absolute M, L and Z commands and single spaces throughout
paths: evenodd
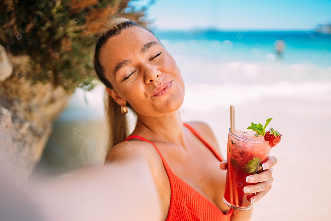
M 216 138 L 208 124 L 200 121 L 186 122 L 186 124 L 193 127 L 201 135 L 201 137 L 204 138 L 210 145 L 212 145 L 214 149 L 219 153 L 219 147 Z

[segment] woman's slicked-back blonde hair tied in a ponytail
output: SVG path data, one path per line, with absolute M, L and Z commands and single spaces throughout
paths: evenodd
M 117 18 L 109 23 L 110 29 L 105 31 L 101 37 L 98 39 L 96 47 L 95 47 L 95 54 L 94 54 L 94 69 L 95 72 L 102 83 L 106 85 L 106 87 L 110 89 L 114 89 L 113 85 L 107 79 L 104 71 L 104 67 L 102 63 L 99 61 L 100 50 L 102 49 L 103 45 L 107 43 L 107 41 L 116 35 L 119 35 L 122 30 L 131 27 L 139 27 L 144 28 L 134 22 L 131 22 L 125 18 Z M 147 28 L 144 28 L 150 31 Z M 150 31 L 153 33 L 152 31 Z M 154 33 L 153 33 L 154 34 Z M 130 108 L 133 112 L 134 110 L 130 106 L 128 102 L 126 102 L 126 106 Z M 126 116 L 121 113 L 120 105 L 114 101 L 114 99 L 106 92 L 105 96 L 105 109 L 107 113 L 107 121 L 109 123 L 109 141 L 108 141 L 108 151 L 115 146 L 116 144 L 122 142 L 126 136 L 128 135 L 128 125 Z

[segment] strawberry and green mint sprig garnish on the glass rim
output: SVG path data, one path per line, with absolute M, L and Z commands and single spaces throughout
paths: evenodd
M 269 122 L 272 120 L 272 118 L 269 118 L 265 121 L 265 125 L 263 127 L 262 124 L 254 124 L 252 122 L 252 126 L 248 127 L 247 129 L 252 129 L 253 131 L 256 131 L 255 136 L 258 137 L 259 135 L 264 136 L 265 141 L 269 141 L 270 147 L 274 147 L 279 143 L 282 135 L 275 131 L 273 128 L 271 128 L 268 132 L 265 133 L 265 128 L 268 126 Z

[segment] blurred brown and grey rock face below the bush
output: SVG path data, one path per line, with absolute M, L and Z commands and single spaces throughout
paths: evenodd
M 60 117 L 71 95 L 62 86 L 28 79 L 29 60 L 26 55 L 7 54 L 0 45 L 1 158 L 25 177 L 40 160 L 52 122 Z

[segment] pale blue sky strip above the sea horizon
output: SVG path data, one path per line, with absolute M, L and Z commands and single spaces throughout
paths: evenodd
M 314 30 L 331 23 L 331 0 L 156 0 L 146 14 L 159 30 Z

